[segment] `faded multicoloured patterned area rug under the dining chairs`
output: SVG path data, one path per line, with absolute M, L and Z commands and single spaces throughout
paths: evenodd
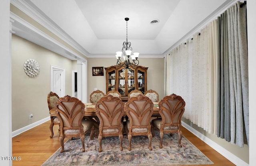
M 85 152 L 82 152 L 80 139 L 67 140 L 64 152 L 60 148 L 42 166 L 179 166 L 179 165 L 212 165 L 214 164 L 184 136 L 178 146 L 178 135 L 164 134 L 163 148 L 159 148 L 159 132 L 155 131 L 152 148 L 148 149 L 146 136 L 132 137 L 132 150 L 128 150 L 128 138 L 124 136 L 123 150 L 119 149 L 119 138 L 104 137 L 102 152 L 98 152 L 98 139 L 85 137 Z

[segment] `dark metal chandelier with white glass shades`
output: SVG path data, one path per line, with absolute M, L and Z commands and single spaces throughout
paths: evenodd
M 124 18 L 124 20 L 126 20 L 126 41 L 124 41 L 123 43 L 122 52 L 121 51 L 116 52 L 116 59 L 117 59 L 116 65 L 120 67 L 124 66 L 125 69 L 129 69 L 129 66 L 135 67 L 139 64 L 138 57 L 140 53 L 135 52 L 133 53 L 133 55 L 131 55 L 132 53 L 131 42 L 128 42 L 128 39 L 127 39 L 127 22 L 129 18 Z M 122 53 L 124 54 L 123 56 L 124 63 L 122 63 L 120 59 L 122 57 Z M 130 61 L 130 57 L 132 58 L 132 61 Z

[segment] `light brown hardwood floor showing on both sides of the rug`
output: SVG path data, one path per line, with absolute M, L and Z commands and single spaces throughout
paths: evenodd
M 58 125 L 55 125 L 53 128 L 53 138 L 50 138 L 49 126 L 50 121 L 47 121 L 12 138 L 12 156 L 20 157 L 21 159 L 13 160 L 13 166 L 40 166 L 60 148 Z M 186 128 L 182 127 L 182 133 L 214 162 L 214 166 L 235 166 L 235 164 L 224 158 L 224 156 L 216 152 L 216 150 L 212 149 Z M 66 140 L 67 138 L 64 141 Z

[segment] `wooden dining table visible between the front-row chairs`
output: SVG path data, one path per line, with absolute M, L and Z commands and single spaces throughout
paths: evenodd
M 153 104 L 154 104 L 154 107 L 153 107 L 152 117 L 160 117 L 159 111 L 158 111 L 158 102 L 153 102 Z M 85 105 L 84 118 L 93 122 L 93 124 L 94 124 L 93 136 L 94 136 L 94 138 L 97 138 L 98 134 L 99 134 L 100 120 L 98 119 L 98 117 L 96 115 L 96 104 L 84 103 L 84 105 Z M 125 116 L 126 116 L 126 111 L 124 109 L 124 117 Z

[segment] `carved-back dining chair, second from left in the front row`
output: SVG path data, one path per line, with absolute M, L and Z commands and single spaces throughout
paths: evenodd
M 118 97 L 107 95 L 102 97 L 96 104 L 96 115 L 100 120 L 99 125 L 99 152 L 102 151 L 102 138 L 106 136 L 118 136 L 120 140 L 120 150 L 123 150 L 123 129 L 121 121 L 124 115 L 124 103 Z

